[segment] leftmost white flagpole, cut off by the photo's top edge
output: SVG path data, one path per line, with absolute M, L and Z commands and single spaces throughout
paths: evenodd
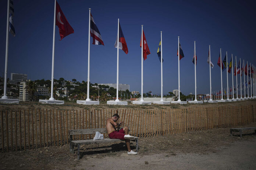
M 7 88 L 7 62 L 8 62 L 8 46 L 9 46 L 9 10 L 10 10 L 10 0 L 7 0 L 7 23 L 6 23 L 6 60 L 4 67 L 4 95 L 1 99 L 8 99 L 6 96 L 6 88 Z

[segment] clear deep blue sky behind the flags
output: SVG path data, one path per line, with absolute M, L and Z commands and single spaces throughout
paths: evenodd
M 214 64 L 212 90 L 220 89 L 218 55 L 228 52 L 256 64 L 255 1 L 84 1 L 58 0 L 74 34 L 60 40 L 56 26 L 54 78 L 87 81 L 89 10 L 103 38 L 103 45 L 90 45 L 90 81 L 116 83 L 117 20 L 127 42 L 129 53 L 119 52 L 119 82 L 129 84 L 130 91 L 141 91 L 141 25 L 151 54 L 143 63 L 143 92 L 161 92 L 161 65 L 157 56 L 160 31 L 163 31 L 163 93 L 178 89 L 177 47 L 180 36 L 185 58 L 180 60 L 181 92 L 195 93 L 194 41 L 197 55 L 197 93 L 209 93 L 211 45 Z M 6 48 L 7 0 L 0 5 L 0 71 L 4 72 Z M 14 0 L 16 36 L 9 35 L 8 77 L 11 73 L 28 74 L 31 80 L 51 79 L 54 0 Z M 91 42 L 92 43 L 92 38 Z M 233 59 L 234 60 L 234 59 Z M 232 76 L 229 76 L 229 85 Z M 235 78 L 235 77 L 234 77 Z M 235 79 L 234 79 L 235 80 Z M 223 88 L 227 87 L 226 72 Z

